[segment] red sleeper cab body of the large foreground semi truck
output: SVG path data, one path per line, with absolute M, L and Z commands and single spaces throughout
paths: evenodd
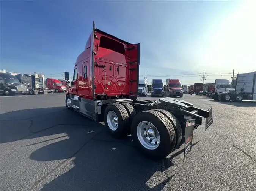
M 76 60 L 69 93 L 86 99 L 137 96 L 140 44 L 131 44 L 93 28 Z M 94 86 L 94 88 L 93 88 Z

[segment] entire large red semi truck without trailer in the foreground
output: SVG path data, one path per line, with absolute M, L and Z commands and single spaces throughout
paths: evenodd
M 95 28 L 85 50 L 77 57 L 66 107 L 104 122 L 117 138 L 132 134 L 136 147 L 153 160 L 163 159 L 206 118 L 212 124 L 212 107 L 207 111 L 192 103 L 172 98 L 140 101 L 138 95 L 140 44 L 131 44 Z M 185 141 L 185 154 L 192 142 Z M 184 156 L 185 156 L 184 154 Z

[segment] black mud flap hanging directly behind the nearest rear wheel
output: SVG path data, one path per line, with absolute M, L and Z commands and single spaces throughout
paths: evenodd
M 183 161 L 185 161 L 185 157 L 187 156 L 188 152 L 190 152 L 192 149 L 194 126 L 195 126 L 195 119 L 186 120 L 185 148 L 184 148 Z

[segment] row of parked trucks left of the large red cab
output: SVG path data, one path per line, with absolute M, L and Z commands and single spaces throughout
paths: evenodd
M 42 77 L 31 74 L 11 75 L 0 73 L 0 94 L 46 94 L 52 92 L 67 92 L 69 85 L 66 81 Z

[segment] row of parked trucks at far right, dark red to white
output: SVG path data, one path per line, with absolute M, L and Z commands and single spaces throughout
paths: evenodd
M 190 94 L 206 95 L 214 100 L 241 102 L 243 99 L 256 100 L 256 72 L 237 74 L 231 82 L 228 79 L 216 79 L 207 88 L 203 83 L 189 86 Z

